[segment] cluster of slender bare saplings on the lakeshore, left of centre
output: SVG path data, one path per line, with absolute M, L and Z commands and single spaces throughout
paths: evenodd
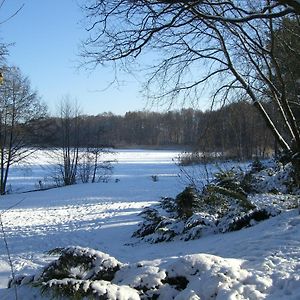
M 92 131 L 89 126 L 83 128 L 84 116 L 80 115 L 76 101 L 68 96 L 62 99 L 59 110 L 59 147 L 50 154 L 58 161 L 54 170 L 57 184 L 73 185 L 78 180 L 82 183 L 108 180 L 113 165 L 112 161 L 100 159 L 103 154 L 111 154 L 108 149 L 100 146 L 101 130 L 98 128 Z M 92 147 L 85 144 L 85 138 L 90 135 L 93 135 L 93 140 L 89 141 Z

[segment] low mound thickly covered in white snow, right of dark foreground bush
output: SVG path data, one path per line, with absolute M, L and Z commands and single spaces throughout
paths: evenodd
M 116 273 L 115 283 L 140 290 L 141 299 L 262 299 L 272 285 L 243 268 L 243 260 L 208 254 L 140 262 Z

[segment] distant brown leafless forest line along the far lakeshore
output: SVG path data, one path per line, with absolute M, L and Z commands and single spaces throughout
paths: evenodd
M 64 145 L 60 117 L 35 122 L 38 124 L 31 127 L 36 132 L 28 137 L 32 144 Z M 165 113 L 135 111 L 124 116 L 112 113 L 79 115 L 73 122 L 80 124 L 76 145 L 81 147 L 188 146 L 237 158 L 266 156 L 275 147 L 270 131 L 248 102 L 232 103 L 206 112 L 181 109 Z

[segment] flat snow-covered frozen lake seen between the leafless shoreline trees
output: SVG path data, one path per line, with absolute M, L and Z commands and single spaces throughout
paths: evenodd
M 159 179 L 169 180 L 177 177 L 179 169 L 175 161 L 179 151 L 170 150 L 141 150 L 119 149 L 111 154 L 104 154 L 102 160 L 113 161 L 113 174 L 110 180 L 130 180 L 138 177 L 158 176 Z M 8 189 L 10 193 L 19 193 L 53 185 L 56 159 L 51 151 L 35 152 L 28 163 L 11 167 Z

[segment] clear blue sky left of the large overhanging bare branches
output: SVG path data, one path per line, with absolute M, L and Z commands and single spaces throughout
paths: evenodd
M 9 63 L 30 78 L 51 113 L 66 95 L 77 99 L 86 114 L 124 114 L 146 107 L 141 86 L 130 75 L 119 78 L 119 87 L 103 91 L 113 78 L 111 69 L 78 70 L 78 48 L 86 32 L 76 0 L 6 0 L 0 9 L 1 22 L 22 4 L 16 16 L 0 25 L 0 37 L 15 43 L 9 48 Z

